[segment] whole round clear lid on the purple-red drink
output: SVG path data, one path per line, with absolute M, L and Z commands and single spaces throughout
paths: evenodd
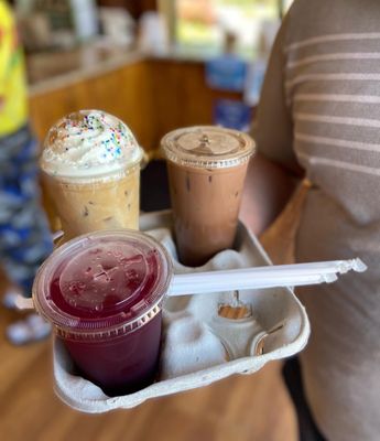
M 161 309 L 171 258 L 152 237 L 97 232 L 57 248 L 33 284 L 37 311 L 65 336 L 120 335 Z M 146 315 L 148 314 L 148 315 Z

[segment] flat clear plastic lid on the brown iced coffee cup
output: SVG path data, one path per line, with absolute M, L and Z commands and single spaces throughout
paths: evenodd
M 247 133 L 214 126 L 195 126 L 169 132 L 161 140 L 165 157 L 181 165 L 219 169 L 242 164 L 254 151 Z

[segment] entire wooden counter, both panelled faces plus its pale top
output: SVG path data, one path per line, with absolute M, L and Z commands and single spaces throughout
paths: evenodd
M 202 61 L 148 57 L 139 52 L 115 51 L 99 56 L 90 51 L 62 55 L 73 69 L 44 78 L 30 87 L 30 110 L 37 137 L 62 116 L 85 108 L 104 109 L 121 118 L 146 150 L 155 149 L 167 131 L 213 122 L 217 98 L 239 99 L 239 94 L 207 87 Z M 51 63 L 34 61 L 35 71 L 59 72 L 58 55 Z M 53 62 L 52 62 L 53 57 Z M 41 77 L 41 74 L 40 74 Z

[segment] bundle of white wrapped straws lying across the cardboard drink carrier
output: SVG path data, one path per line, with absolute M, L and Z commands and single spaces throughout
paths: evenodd
M 183 273 L 173 276 L 169 295 L 329 283 L 339 273 L 366 269 L 360 259 L 351 259 Z

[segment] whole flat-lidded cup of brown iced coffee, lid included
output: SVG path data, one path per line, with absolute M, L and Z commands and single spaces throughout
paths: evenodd
M 162 139 L 180 261 L 204 265 L 235 240 L 253 140 L 219 127 L 177 129 Z

